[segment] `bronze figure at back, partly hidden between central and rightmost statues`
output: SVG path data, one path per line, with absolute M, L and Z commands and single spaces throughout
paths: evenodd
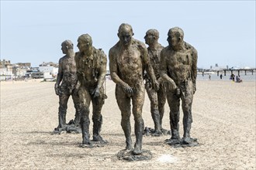
M 162 132 L 167 133 L 167 130 L 162 128 L 162 119 L 164 116 L 164 104 L 166 102 L 166 87 L 164 80 L 160 77 L 160 53 L 164 46 L 158 42 L 159 32 L 157 29 L 149 29 L 144 36 L 145 42 L 148 45 L 147 53 L 150 59 L 150 64 L 154 69 L 154 74 L 159 83 L 159 90 L 152 87 L 150 76 L 144 76 L 146 80 L 147 96 L 150 99 L 150 112 L 154 121 L 154 132 L 152 135 L 159 136 Z

